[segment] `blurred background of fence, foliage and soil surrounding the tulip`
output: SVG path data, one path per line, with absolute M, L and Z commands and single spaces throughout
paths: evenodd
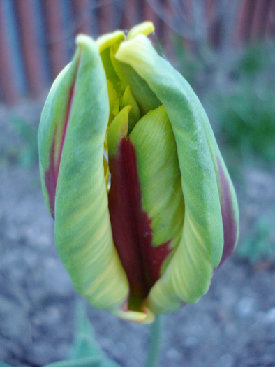
M 143 20 L 154 22 L 158 52 L 207 110 L 237 189 L 241 224 L 221 282 L 215 275 L 205 301 L 192 308 L 200 325 L 187 322 L 175 341 L 189 311 L 169 319 L 161 366 L 275 366 L 275 0 L 0 0 L 0 361 L 40 366 L 61 359 L 73 336 L 68 320 L 77 295 L 54 248 L 38 173 L 47 92 L 70 61 L 77 33 L 96 38 Z M 144 345 L 132 355 L 120 334 L 111 342 L 107 322 L 132 336 L 135 326 L 109 315 L 102 324 L 90 313 L 103 348 L 122 365 L 132 358 L 128 365 L 140 366 Z

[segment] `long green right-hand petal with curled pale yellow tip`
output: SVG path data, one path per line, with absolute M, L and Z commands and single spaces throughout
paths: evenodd
M 154 312 L 169 312 L 182 301 L 198 301 L 207 292 L 223 252 L 216 163 L 209 147 L 214 136 L 209 134 L 205 110 L 188 82 L 156 53 L 146 37 L 139 34 L 121 43 L 116 58 L 130 65 L 163 103 L 177 144 L 184 228 L 174 257 L 148 298 Z

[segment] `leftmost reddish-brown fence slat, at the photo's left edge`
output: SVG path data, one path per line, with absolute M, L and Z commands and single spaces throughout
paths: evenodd
M 0 85 L 3 100 L 8 104 L 18 101 L 18 92 L 12 70 L 10 48 L 8 44 L 6 21 L 3 13 L 3 3 L 0 1 Z

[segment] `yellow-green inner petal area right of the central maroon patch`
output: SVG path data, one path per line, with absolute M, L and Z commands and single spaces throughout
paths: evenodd
M 184 197 L 177 146 L 165 108 L 142 117 L 130 140 L 137 154 L 142 210 L 152 220 L 152 245 L 170 241 L 170 249 L 177 247 L 184 224 Z

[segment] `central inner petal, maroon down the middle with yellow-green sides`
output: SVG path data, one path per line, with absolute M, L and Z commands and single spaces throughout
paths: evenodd
M 160 178 L 159 173 L 158 177 L 155 178 L 153 182 L 148 182 L 150 188 L 151 185 L 155 183 L 161 186 L 161 188 L 163 188 L 165 184 L 165 188 L 170 185 L 174 178 L 173 176 L 177 176 L 179 173 L 179 164 L 177 161 L 174 136 L 164 108 L 159 111 L 155 110 L 152 111 L 152 113 L 148 113 L 148 117 L 145 116 L 137 122 L 131 133 L 133 136 L 130 140 L 127 136 L 128 107 L 129 106 L 126 106 L 116 117 L 114 117 L 108 131 L 109 164 L 112 176 L 109 193 L 109 210 L 114 245 L 117 247 L 119 258 L 124 266 L 130 285 L 128 308 L 131 310 L 142 310 L 144 298 L 147 297 L 151 287 L 158 278 L 160 278 L 163 262 L 172 250 L 170 249 L 170 243 L 175 245 L 175 238 L 171 238 L 171 236 L 176 237 L 175 229 L 177 228 L 177 224 L 173 222 L 174 207 L 176 206 L 177 208 L 181 201 L 178 198 L 179 203 L 174 202 L 175 205 L 173 205 L 172 202 L 168 203 L 168 199 L 170 198 L 167 198 L 167 196 L 164 200 L 158 197 L 160 205 L 158 206 L 158 210 L 153 210 L 155 214 L 153 218 L 154 228 L 156 230 L 156 233 L 153 233 L 151 227 L 152 219 L 148 216 L 148 213 L 144 211 L 142 206 L 140 178 L 138 174 L 140 172 L 142 173 L 142 171 L 137 171 L 137 157 L 133 143 L 136 144 L 138 149 L 139 163 L 141 165 L 142 158 L 144 158 L 140 152 L 142 147 L 147 151 L 148 156 L 148 154 L 150 155 L 152 152 L 152 150 L 148 149 L 148 145 L 151 145 L 153 150 L 155 150 L 154 148 L 158 145 L 160 140 L 163 141 L 163 143 L 168 143 L 167 145 L 172 144 L 172 149 L 169 149 L 168 146 L 168 152 L 165 154 L 164 162 L 162 160 L 163 164 L 158 164 L 158 168 L 163 168 L 167 166 L 168 162 L 170 163 L 171 153 L 174 153 L 176 162 L 163 171 L 163 175 L 165 175 L 164 179 Z M 144 127 L 146 127 L 146 129 L 144 129 Z M 169 134 L 169 130 L 171 134 Z M 156 134 L 154 134 L 154 131 L 156 131 Z M 160 150 L 161 147 L 158 147 L 158 153 Z M 146 165 L 147 163 L 148 162 L 146 162 Z M 148 168 L 149 171 L 151 171 L 152 165 L 149 164 Z M 155 172 L 156 171 L 151 172 L 151 176 Z M 149 175 L 147 178 L 150 180 L 151 176 Z M 181 194 L 180 176 L 178 186 Z M 170 192 L 176 187 L 177 185 L 171 185 Z M 142 191 L 148 197 L 152 189 L 148 192 L 147 188 L 148 185 L 145 185 L 145 191 Z M 159 187 L 157 192 L 158 194 L 163 194 Z M 172 192 L 172 194 L 175 193 Z M 146 200 L 145 203 L 147 203 Z M 147 208 L 149 209 L 152 209 L 154 204 L 156 205 L 156 203 L 152 203 L 151 201 L 147 204 Z M 171 207 L 164 208 L 165 204 Z M 159 213 L 161 209 L 166 209 L 166 213 Z M 181 215 L 183 217 L 183 213 L 181 213 Z M 178 232 L 177 234 L 180 236 L 181 228 L 179 228 Z M 167 240 L 161 242 L 165 236 Z M 179 240 L 179 238 L 177 239 Z

